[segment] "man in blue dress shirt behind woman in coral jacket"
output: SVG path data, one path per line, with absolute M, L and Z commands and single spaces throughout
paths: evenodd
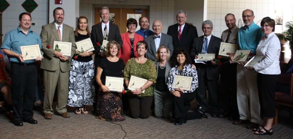
M 154 34 L 153 31 L 149 30 L 149 18 L 145 16 L 140 17 L 139 26 L 140 26 L 140 29 L 136 31 L 135 33 L 141 35 L 142 37 L 144 37 L 144 39 Z

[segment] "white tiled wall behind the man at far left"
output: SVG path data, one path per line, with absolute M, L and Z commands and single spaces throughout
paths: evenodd
M 6 0 L 10 6 L 2 13 L 2 34 L 15 29 L 19 25 L 18 16 L 26 12 L 25 9 L 21 6 L 25 0 Z M 48 0 L 34 0 L 38 7 L 31 13 L 32 23 L 35 23 L 34 26 L 30 28 L 37 32 L 38 34 L 42 31 L 42 25 L 48 24 Z M 2 39 L 4 39 L 4 36 Z

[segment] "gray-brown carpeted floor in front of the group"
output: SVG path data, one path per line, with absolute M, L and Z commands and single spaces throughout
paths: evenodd
M 54 103 L 55 104 L 55 103 Z M 55 104 L 56 105 L 56 104 Z M 91 110 L 91 107 L 87 107 Z M 192 107 L 192 109 L 194 109 Z M 254 135 L 246 129 L 246 125 L 233 125 L 226 118 L 197 119 L 187 121 L 180 126 L 173 125 L 172 119 L 159 119 L 154 116 L 148 119 L 132 119 L 125 112 L 125 121 L 115 122 L 96 119 L 89 112 L 86 115 L 74 114 L 74 108 L 68 107 L 70 118 L 63 118 L 53 114 L 52 120 L 44 119 L 42 112 L 34 111 L 34 119 L 38 124 L 23 123 L 14 126 L 5 114 L 0 114 L 0 138 L 292 138 L 293 124 L 289 120 L 289 113 L 279 112 L 277 126 L 273 126 L 273 135 Z M 121 126 L 124 131 L 121 130 Z

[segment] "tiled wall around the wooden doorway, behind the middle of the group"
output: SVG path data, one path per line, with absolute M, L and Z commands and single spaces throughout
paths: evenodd
M 150 24 L 155 20 L 160 20 L 163 24 L 163 33 L 167 33 L 168 26 L 174 24 L 174 0 L 80 0 L 79 3 L 79 16 L 86 16 L 88 18 L 90 29 L 94 23 L 93 4 L 105 4 L 105 6 L 146 5 L 149 6 Z

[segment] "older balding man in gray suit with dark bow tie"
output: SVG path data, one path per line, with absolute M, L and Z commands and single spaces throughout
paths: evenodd
M 172 37 L 170 35 L 162 33 L 163 25 L 162 22 L 159 20 L 154 21 L 153 23 L 153 30 L 154 34 L 147 37 L 145 39 L 148 49 L 146 58 L 155 61 L 156 60 L 156 52 L 159 46 L 165 45 L 170 51 L 170 58 L 173 53 L 173 43 Z

